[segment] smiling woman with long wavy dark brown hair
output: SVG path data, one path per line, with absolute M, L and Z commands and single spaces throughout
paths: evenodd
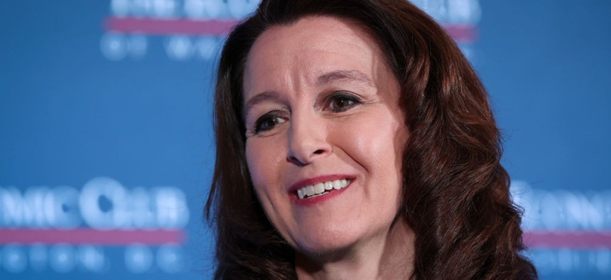
M 215 278 L 536 278 L 485 90 L 412 4 L 262 1 L 215 117 Z

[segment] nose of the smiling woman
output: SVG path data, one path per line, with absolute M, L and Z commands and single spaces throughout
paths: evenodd
M 293 114 L 288 135 L 286 160 L 298 166 L 305 166 L 331 154 L 327 141 L 328 131 L 324 120 L 319 117 L 301 117 Z

